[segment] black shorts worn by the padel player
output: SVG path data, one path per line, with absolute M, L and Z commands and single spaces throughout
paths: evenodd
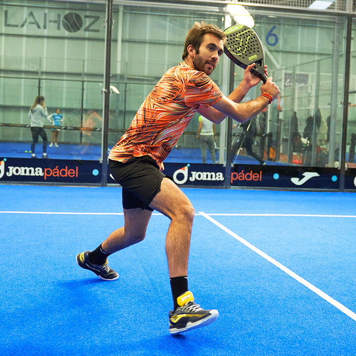
M 150 156 L 133 157 L 125 163 L 109 159 L 112 177 L 122 186 L 124 209 L 141 208 L 153 211 L 148 205 L 161 190 L 166 176 Z

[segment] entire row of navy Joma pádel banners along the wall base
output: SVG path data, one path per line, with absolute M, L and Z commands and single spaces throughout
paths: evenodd
M 0 183 L 101 183 L 99 161 L 45 160 L 31 158 L 0 158 Z M 225 166 L 203 163 L 166 163 L 164 174 L 178 186 L 225 186 Z M 340 188 L 337 168 L 234 165 L 230 173 L 231 186 L 335 189 Z M 108 183 L 117 183 L 110 177 Z M 345 189 L 356 190 L 356 169 L 345 173 Z

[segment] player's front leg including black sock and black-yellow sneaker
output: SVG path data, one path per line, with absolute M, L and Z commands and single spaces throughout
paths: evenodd
M 194 209 L 186 195 L 169 178 L 163 178 L 161 191 L 152 200 L 150 207 L 171 219 L 166 238 L 168 269 L 174 300 L 174 311 L 169 314 L 171 334 L 179 334 L 217 319 L 215 309 L 204 310 L 194 303 L 193 294 L 188 291 L 187 270 L 190 235 Z

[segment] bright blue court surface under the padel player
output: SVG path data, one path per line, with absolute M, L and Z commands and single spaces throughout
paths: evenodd
M 353 193 L 183 191 L 189 289 L 220 316 L 172 336 L 168 218 L 102 281 L 75 257 L 121 227 L 121 188 L 0 185 L 0 355 L 356 355 Z

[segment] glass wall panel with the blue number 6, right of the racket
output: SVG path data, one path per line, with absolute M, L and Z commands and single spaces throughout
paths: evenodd
M 254 18 L 268 74 L 281 94 L 251 120 L 253 133 L 247 124 L 233 125 L 232 162 L 338 167 L 346 22 L 286 14 L 256 13 Z M 235 85 L 242 74 L 240 68 L 235 69 Z M 261 94 L 259 88 L 254 89 L 247 99 Z

